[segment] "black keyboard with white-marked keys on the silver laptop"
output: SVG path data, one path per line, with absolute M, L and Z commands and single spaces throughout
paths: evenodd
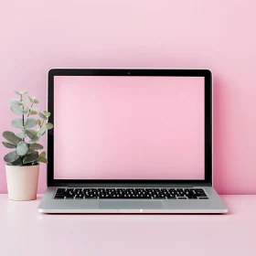
M 202 188 L 58 188 L 54 199 L 208 199 Z

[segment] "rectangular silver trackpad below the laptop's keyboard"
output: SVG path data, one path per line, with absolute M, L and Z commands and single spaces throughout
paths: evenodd
M 164 208 L 162 201 L 141 201 L 141 200 L 100 200 L 100 208 L 104 209 L 158 209 Z

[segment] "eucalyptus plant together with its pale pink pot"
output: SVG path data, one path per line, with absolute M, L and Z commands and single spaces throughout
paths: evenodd
M 12 99 L 10 109 L 20 115 L 11 125 L 19 129 L 18 133 L 5 131 L 5 147 L 11 150 L 5 155 L 5 171 L 8 197 L 13 200 L 34 200 L 37 198 L 39 163 L 47 164 L 46 152 L 40 154 L 44 147 L 38 144 L 48 129 L 50 112 L 39 112 L 35 107 L 36 97 L 27 96 L 27 91 L 15 91 L 19 99 Z M 29 105 L 28 105 L 29 104 Z M 33 117 L 32 117 L 33 116 Z

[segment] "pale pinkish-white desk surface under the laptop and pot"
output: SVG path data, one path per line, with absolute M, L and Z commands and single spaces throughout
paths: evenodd
M 0 195 L 0 255 L 256 255 L 256 196 L 227 215 L 44 215 Z

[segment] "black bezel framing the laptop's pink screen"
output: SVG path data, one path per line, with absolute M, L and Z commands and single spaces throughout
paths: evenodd
M 201 180 L 112 180 L 112 179 L 54 179 L 54 128 L 48 131 L 48 187 L 153 187 L 178 184 L 212 185 L 212 75 L 208 69 L 50 69 L 48 71 L 49 122 L 54 123 L 55 76 L 181 76 L 205 78 L 205 179 Z

